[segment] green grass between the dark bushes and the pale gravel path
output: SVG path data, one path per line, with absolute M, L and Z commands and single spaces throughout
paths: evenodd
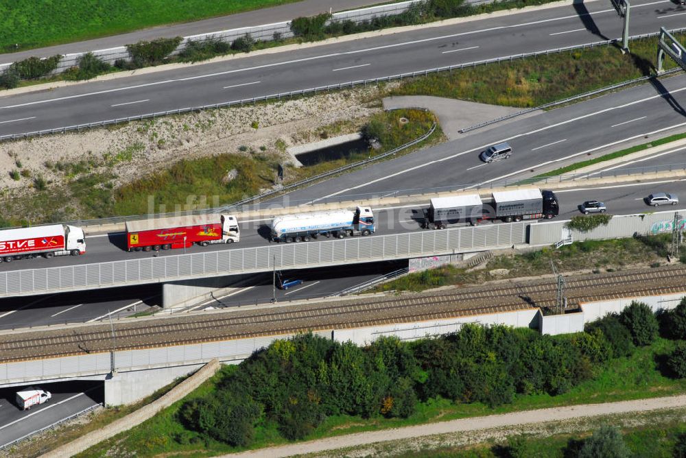
M 682 394 L 686 391 L 686 381 L 674 380 L 663 376 L 655 363 L 656 359 L 659 359 L 661 355 L 670 352 L 673 346 L 673 341 L 658 339 L 652 346 L 637 349 L 631 357 L 613 359 L 604 367 L 596 370 L 593 380 L 581 383 L 559 396 L 519 395 L 512 404 L 496 408 L 490 408 L 480 403 L 455 404 L 449 400 L 438 398 L 428 402 L 421 402 L 418 405 L 418 409 L 416 409 L 416 413 L 406 419 L 361 418 L 349 415 L 336 415 L 324 420 L 307 439 L 311 440 L 494 413 Z M 230 368 L 224 370 L 230 370 Z M 212 388 L 213 385 L 211 383 L 203 385 L 201 387 L 202 393 L 204 394 Z M 201 396 L 201 394 L 198 391 L 194 391 L 189 396 L 192 398 Z M 180 402 L 169 407 L 169 409 L 165 409 L 155 418 L 143 422 L 134 431 L 118 435 L 78 456 L 123 457 L 133 454 L 137 456 L 182 454 L 185 456 L 204 457 L 238 450 L 212 439 L 201 438 L 197 433 L 186 430 L 176 416 L 179 408 Z M 265 426 L 256 431 L 255 443 L 250 448 L 263 448 L 265 446 L 286 443 L 287 441 L 276 430 L 276 424 L 265 424 Z

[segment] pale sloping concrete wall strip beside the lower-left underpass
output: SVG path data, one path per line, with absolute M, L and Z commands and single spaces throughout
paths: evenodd
M 82 437 L 79 437 L 75 441 L 69 442 L 69 444 L 65 444 L 61 447 L 56 448 L 55 450 L 51 450 L 45 455 L 42 455 L 42 457 L 71 457 L 73 455 L 76 455 L 77 453 L 81 453 L 82 451 L 87 450 L 95 444 L 99 444 L 99 442 L 102 442 L 119 433 L 123 433 L 124 431 L 132 429 L 134 426 L 137 426 L 145 420 L 152 418 L 159 411 L 166 409 L 170 405 L 174 404 L 174 402 L 181 400 L 182 398 L 187 396 L 187 394 L 189 394 L 191 391 L 199 387 L 200 384 L 202 384 L 208 378 L 213 376 L 215 372 L 219 370 L 219 368 L 219 361 L 217 361 L 217 359 L 213 359 L 212 361 L 204 365 L 202 369 L 198 370 L 198 372 L 191 375 L 185 381 L 182 381 L 179 385 L 171 389 L 169 393 L 165 394 L 158 400 L 155 400 L 150 404 L 141 407 L 134 413 L 126 415 L 126 417 L 124 418 L 120 418 L 119 420 L 116 420 L 115 422 L 108 424 L 107 428 L 99 429 L 97 431 L 93 431 L 92 433 L 88 433 Z

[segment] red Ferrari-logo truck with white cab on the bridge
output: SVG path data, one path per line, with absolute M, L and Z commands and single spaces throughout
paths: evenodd
M 193 243 L 233 243 L 240 240 L 238 220 L 231 215 L 190 215 L 126 221 L 129 251 L 188 248 Z

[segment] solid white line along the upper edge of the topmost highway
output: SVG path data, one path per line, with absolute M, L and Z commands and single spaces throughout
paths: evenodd
M 671 3 L 671 2 L 669 0 L 654 1 L 651 3 L 643 3 L 641 5 L 632 5 L 632 8 L 639 8 L 640 6 L 648 6 L 648 5 L 657 5 L 658 3 Z M 606 13 L 606 12 L 615 12 L 615 10 L 614 10 L 614 8 L 612 8 L 612 9 L 608 9 L 608 10 L 595 11 L 593 13 L 573 14 L 571 16 L 562 16 L 559 18 L 552 18 L 552 19 L 542 19 L 541 21 L 533 21 L 533 22 L 529 22 L 529 23 L 520 23 L 520 24 L 506 25 L 506 26 L 500 26 L 500 27 L 489 27 L 486 29 L 473 30 L 471 32 L 460 32 L 458 34 L 436 36 L 433 38 L 424 38 L 422 40 L 412 40 L 412 41 L 406 41 L 403 43 L 394 43 L 392 45 L 383 45 L 383 46 L 371 47 L 371 48 L 366 48 L 366 49 L 357 49 L 355 51 L 345 51 L 342 53 L 322 54 L 322 56 L 313 56 L 313 57 L 309 57 L 309 58 L 287 60 L 285 62 L 274 62 L 272 64 L 257 65 L 255 67 L 247 67 L 245 69 L 234 69 L 234 70 L 228 70 L 228 71 L 220 71 L 217 73 L 207 73 L 206 75 L 196 75 L 196 76 L 189 76 L 189 77 L 185 77 L 185 78 L 178 78 L 178 79 L 174 79 L 174 80 L 163 80 L 163 81 L 157 81 L 157 82 L 145 83 L 145 84 L 134 84 L 133 86 L 126 86 L 123 88 L 113 88 L 113 89 L 106 89 L 104 91 L 94 91 L 92 93 L 68 95 L 65 97 L 56 97 L 54 99 L 36 100 L 36 101 L 26 102 L 24 104 L 0 106 L 0 110 L 6 109 L 6 108 L 17 108 L 20 106 L 46 104 L 46 103 L 51 102 L 51 101 L 77 99 L 80 97 L 88 97 L 89 95 L 99 95 L 99 94 L 106 94 L 106 93 L 115 93 L 115 92 L 119 92 L 119 91 L 128 91 L 129 89 L 144 88 L 147 86 L 157 86 L 158 84 L 169 84 L 169 83 L 180 82 L 180 81 L 198 80 L 200 78 L 207 78 L 207 77 L 220 76 L 220 75 L 229 75 L 230 73 L 238 73 L 238 72 L 242 72 L 242 71 L 267 69 L 270 67 L 279 67 L 281 65 L 287 65 L 287 64 L 298 64 L 300 62 L 307 62 L 309 60 L 319 60 L 319 59 L 330 58 L 330 57 L 335 57 L 335 56 L 345 56 L 345 55 L 350 55 L 350 54 L 364 53 L 364 52 L 368 52 L 368 51 L 377 51 L 379 49 L 388 49 L 388 48 L 394 48 L 394 47 L 405 46 L 405 45 L 414 45 L 416 43 L 425 43 L 428 41 L 444 40 L 445 38 L 454 38 L 456 36 L 478 34 L 478 33 L 482 33 L 482 32 L 492 32 L 493 30 L 499 30 L 499 29 L 525 27 L 527 25 L 536 25 L 536 24 L 542 24 L 542 23 L 547 23 L 547 22 L 551 22 L 551 21 L 563 21 L 565 19 L 578 19 L 579 16 L 592 16 L 594 14 L 601 14 L 601 13 Z

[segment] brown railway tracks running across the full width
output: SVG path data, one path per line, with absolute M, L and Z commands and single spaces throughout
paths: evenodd
M 556 280 L 551 278 L 435 294 L 141 318 L 117 322 L 116 339 L 109 324 L 0 333 L 0 362 L 108 352 L 115 341 L 116 350 L 132 350 L 547 307 L 555 304 L 556 291 Z M 570 309 L 582 302 L 681 291 L 686 293 L 686 267 L 571 276 L 565 287 Z

